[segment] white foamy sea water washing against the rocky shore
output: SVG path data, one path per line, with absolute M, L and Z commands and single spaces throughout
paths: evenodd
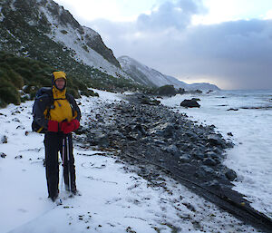
M 180 102 L 190 98 L 199 98 L 200 108 L 180 107 Z M 238 174 L 233 189 L 272 218 L 272 90 L 178 94 L 160 102 L 185 112 L 192 121 L 215 125 L 225 139 L 235 143 L 224 161 Z

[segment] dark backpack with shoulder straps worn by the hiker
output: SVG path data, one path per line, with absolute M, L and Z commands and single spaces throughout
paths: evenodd
M 51 87 L 42 87 L 42 88 L 40 88 L 38 90 L 38 92 L 35 95 L 34 105 L 39 100 L 39 98 L 44 94 L 47 94 L 49 99 L 50 99 L 50 102 L 48 102 L 48 104 L 45 107 L 45 109 L 47 109 L 47 117 L 49 117 L 50 110 L 52 109 L 52 105 L 53 105 L 53 102 L 54 102 Z M 73 97 L 70 94 L 66 93 L 66 99 L 67 99 L 68 102 L 70 102 L 70 105 L 71 105 L 72 110 L 73 110 L 72 98 Z M 33 108 L 33 116 L 34 116 L 34 108 Z M 39 125 L 37 121 L 34 121 L 34 118 L 33 118 L 31 127 L 32 127 L 32 131 L 35 131 L 35 132 L 38 132 L 38 133 L 45 133 L 45 131 L 46 131 L 43 126 Z

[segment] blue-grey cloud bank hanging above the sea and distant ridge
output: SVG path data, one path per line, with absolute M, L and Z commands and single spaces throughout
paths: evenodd
M 164 2 L 137 21 L 88 23 L 116 56 L 132 58 L 184 82 L 223 89 L 272 89 L 272 21 L 191 25 L 206 14 L 201 1 Z

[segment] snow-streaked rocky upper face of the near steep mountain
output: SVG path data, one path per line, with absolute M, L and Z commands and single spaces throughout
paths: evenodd
M 51 24 L 51 32 L 47 35 L 54 42 L 63 44 L 73 50 L 73 58 L 78 62 L 93 66 L 103 73 L 108 73 L 113 76 L 116 76 L 116 73 L 120 73 L 127 77 L 127 75 L 121 71 L 120 64 L 113 56 L 113 53 L 111 54 L 111 50 L 106 48 L 102 43 L 101 36 L 98 33 L 89 27 L 76 24 L 73 18 L 71 18 L 70 22 L 68 21 L 63 24 L 61 21 L 62 18 L 53 15 L 52 12 L 48 10 L 50 7 L 59 7 L 59 15 L 67 15 L 68 13 L 65 13 L 63 7 L 57 6 L 52 0 L 47 1 L 44 5 L 39 5 L 40 11 L 44 13 L 48 22 Z M 72 20 L 74 20 L 74 22 Z M 95 44 L 96 47 L 100 46 L 96 51 L 94 50 Z

